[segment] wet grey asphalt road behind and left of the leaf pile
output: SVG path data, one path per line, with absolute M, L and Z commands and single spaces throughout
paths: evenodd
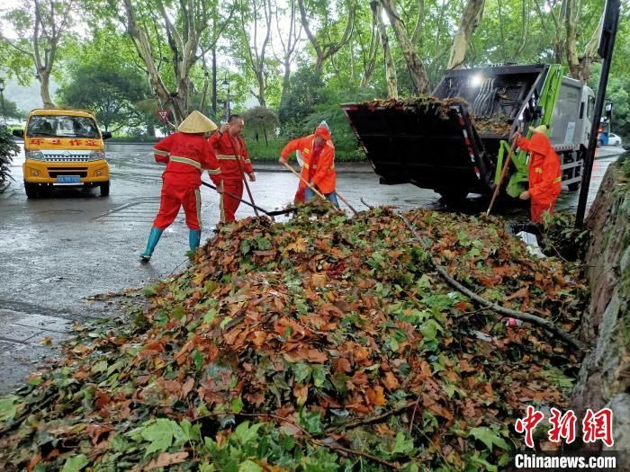
M 621 148 L 599 149 L 593 169 L 590 200 L 601 177 Z M 159 205 L 163 167 L 153 161 L 150 145 L 107 145 L 112 167 L 109 197 L 98 189 L 58 188 L 47 198 L 27 200 L 23 190 L 23 154 L 14 160 L 12 183 L 0 193 L 0 393 L 7 391 L 67 337 L 74 321 L 110 316 L 117 307 L 85 298 L 141 287 L 184 269 L 188 228 L 184 212 L 166 231 L 151 263 L 139 263 Z M 279 165 L 255 165 L 251 184 L 257 205 L 282 208 L 293 200 L 297 179 Z M 264 172 L 267 171 L 267 172 Z M 207 176 L 206 176 L 207 179 Z M 410 184 L 383 186 L 369 165 L 338 165 L 338 189 L 356 209 L 391 204 L 399 208 L 444 209 L 437 193 Z M 558 207 L 574 209 L 578 193 L 563 193 Z M 487 201 L 472 199 L 463 210 L 479 212 Z M 507 209 L 525 214 L 525 209 Z M 238 217 L 253 216 L 241 205 Z M 211 237 L 219 219 L 218 198 L 202 187 L 202 241 Z

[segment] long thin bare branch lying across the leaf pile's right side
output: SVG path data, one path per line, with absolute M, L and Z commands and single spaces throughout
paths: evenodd
M 521 321 L 527 321 L 527 323 L 541 326 L 545 328 L 547 331 L 549 331 L 550 333 L 558 336 L 565 343 L 572 345 L 572 347 L 577 349 L 580 353 L 583 353 L 586 351 L 587 347 L 584 343 L 581 343 L 580 341 L 575 339 L 571 334 L 567 333 L 562 328 L 559 328 L 558 326 L 554 325 L 551 321 L 548 321 L 545 318 L 541 318 L 540 316 L 531 315 L 529 313 L 525 313 L 522 311 L 501 307 L 500 305 L 497 305 L 496 303 L 492 303 L 490 300 L 480 297 L 479 295 L 474 293 L 472 290 L 465 288 L 464 285 L 462 285 L 458 281 L 455 281 L 453 277 L 448 275 L 448 272 L 446 272 L 446 268 L 437 263 L 433 255 L 428 250 L 427 245 L 424 244 L 422 238 L 419 236 L 418 232 L 416 231 L 416 228 L 411 225 L 410 221 L 402 215 L 398 215 L 398 216 L 405 222 L 405 225 L 409 227 L 413 236 L 416 237 L 420 245 L 422 245 L 422 247 L 427 251 L 428 257 L 431 263 L 433 264 L 433 266 L 436 268 L 437 272 L 439 272 L 439 274 L 442 277 L 444 277 L 449 284 L 455 287 L 455 289 L 458 289 L 459 291 L 464 293 L 464 295 L 466 295 L 469 298 L 472 298 L 474 301 L 476 301 L 480 305 L 492 308 L 495 312 L 500 314 L 500 316 L 512 317 L 512 318 L 519 319 Z

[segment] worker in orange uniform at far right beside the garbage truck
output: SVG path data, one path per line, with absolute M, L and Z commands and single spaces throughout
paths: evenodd
M 543 213 L 554 213 L 555 200 L 563 189 L 563 174 L 560 158 L 555 154 L 551 141 L 547 138 L 545 125 L 531 128 L 531 138 L 518 138 L 517 146 L 529 153 L 529 190 L 518 198 L 532 200 L 531 219 L 534 223 L 543 221 Z

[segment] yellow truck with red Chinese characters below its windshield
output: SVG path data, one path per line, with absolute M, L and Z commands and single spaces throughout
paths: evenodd
M 25 129 L 14 129 L 24 138 L 24 190 L 37 198 L 52 186 L 100 187 L 101 196 L 110 193 L 110 167 L 105 159 L 103 139 L 94 113 L 75 109 L 35 109 Z

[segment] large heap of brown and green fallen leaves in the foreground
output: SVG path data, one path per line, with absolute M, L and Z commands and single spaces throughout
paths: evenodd
M 485 298 L 577 327 L 572 266 L 495 218 L 302 209 L 221 228 L 148 308 L 85 328 L 0 399 L 0 468 L 499 470 L 526 405 L 566 405 L 577 360 Z

